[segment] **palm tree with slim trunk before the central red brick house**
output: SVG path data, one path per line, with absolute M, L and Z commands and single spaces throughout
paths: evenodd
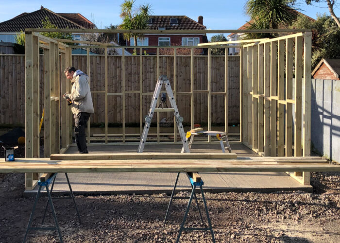
M 145 30 L 147 28 L 149 15 L 151 13 L 151 5 L 143 4 L 138 8 L 135 7 L 134 3 L 136 0 L 125 0 L 120 5 L 120 17 L 123 19 L 123 22 L 119 25 L 120 29 L 123 30 Z M 136 10 L 135 10 L 136 8 Z M 134 38 L 135 46 L 137 45 L 137 38 L 143 37 L 143 34 L 132 34 L 132 33 L 124 33 L 124 38 L 129 40 L 130 38 Z M 136 53 L 136 49 L 135 49 Z

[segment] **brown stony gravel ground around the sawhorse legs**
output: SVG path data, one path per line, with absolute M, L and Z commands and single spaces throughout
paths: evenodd
M 216 242 L 338 243 L 339 175 L 312 173 L 313 193 L 205 193 Z M 34 203 L 34 198 L 23 198 L 23 191 L 24 174 L 0 174 L 0 243 L 23 239 Z M 174 200 L 164 225 L 169 203 L 166 194 L 77 196 L 76 201 L 82 224 L 71 200 L 53 200 L 64 242 L 175 242 L 187 206 L 187 199 Z M 34 226 L 39 226 L 46 198 L 40 202 Z M 54 226 L 51 214 L 48 216 L 45 226 Z M 186 226 L 202 227 L 199 222 L 193 203 Z M 59 239 L 56 231 L 31 231 L 28 242 Z M 209 232 L 184 232 L 181 242 L 211 242 L 211 236 Z

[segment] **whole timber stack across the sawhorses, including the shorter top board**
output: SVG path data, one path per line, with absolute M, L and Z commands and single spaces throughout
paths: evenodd
M 210 157 L 221 154 L 223 158 Z M 134 157 L 131 157 L 132 155 Z M 199 155 L 200 158 L 195 157 Z M 233 153 L 206 153 L 205 156 L 209 158 L 202 158 L 202 155 L 202 153 L 133 153 L 52 155 L 53 159 L 19 158 L 15 162 L 5 162 L 1 159 L 0 173 L 340 171 L 340 165 L 331 165 L 320 157 L 236 158 Z M 115 159 L 112 159 L 112 156 Z

